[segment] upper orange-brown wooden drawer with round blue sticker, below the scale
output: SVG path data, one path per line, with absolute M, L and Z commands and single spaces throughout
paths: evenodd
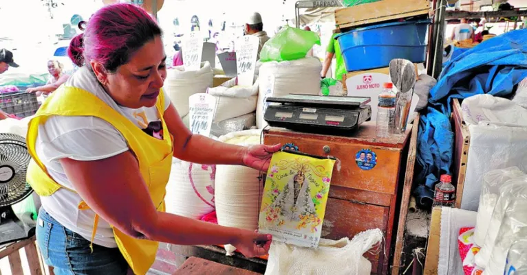
M 333 170 L 332 186 L 347 187 L 377 193 L 396 193 L 398 171 L 400 165 L 400 150 L 391 147 L 364 145 L 361 143 L 342 143 L 319 139 L 294 138 L 276 134 L 266 134 L 264 143 L 293 143 L 300 152 L 316 156 L 334 156 L 341 161 L 341 171 Z M 323 148 L 330 149 L 329 154 Z M 326 147 L 326 148 L 327 148 Z M 358 167 L 355 156 L 363 150 L 372 150 L 377 156 L 377 164 L 371 170 Z

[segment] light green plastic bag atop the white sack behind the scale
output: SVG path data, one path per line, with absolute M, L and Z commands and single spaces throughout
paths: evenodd
M 321 45 L 320 37 L 315 32 L 283 27 L 261 49 L 260 61 L 286 61 L 305 58 L 313 45 Z

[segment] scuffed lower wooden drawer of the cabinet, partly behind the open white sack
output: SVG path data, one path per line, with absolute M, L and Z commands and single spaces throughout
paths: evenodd
M 321 237 L 338 240 L 343 237 L 352 239 L 356 234 L 368 229 L 379 228 L 386 234 L 389 208 L 360 204 L 347 200 L 329 198 L 325 209 Z M 374 248 L 378 250 L 378 247 Z M 364 256 L 372 262 L 372 274 L 376 274 L 380 262 L 384 261 L 383 251 L 380 253 L 365 253 Z

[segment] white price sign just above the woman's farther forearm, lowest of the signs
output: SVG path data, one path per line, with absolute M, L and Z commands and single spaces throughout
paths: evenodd
M 193 134 L 208 136 L 211 133 L 216 98 L 206 93 L 196 93 L 189 97 L 189 125 Z

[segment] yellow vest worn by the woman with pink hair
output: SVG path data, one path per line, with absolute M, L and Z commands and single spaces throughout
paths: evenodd
M 92 93 L 80 88 L 61 86 L 47 98 L 29 123 L 27 143 L 32 160 L 28 167 L 28 182 L 34 191 L 41 196 L 51 195 L 58 189 L 64 188 L 47 174 L 46 168 L 39 159 L 39 156 L 36 155 L 35 143 L 36 136 L 39 134 L 39 125 L 45 123 L 48 117 L 54 115 L 98 117 L 114 125 L 122 136 L 125 137 L 130 150 L 138 159 L 141 175 L 144 182 L 148 185 L 150 197 L 154 205 L 158 206 L 158 211 L 164 211 L 165 187 L 166 182 L 169 180 L 173 147 L 171 134 L 169 134 L 163 119 L 163 93 L 160 93 L 155 106 L 158 109 L 159 117 L 163 125 L 163 140 L 149 136 L 138 128 L 136 124 L 120 115 L 113 108 L 110 108 L 104 101 Z M 119 173 L 119 171 L 114 171 L 114 173 Z M 116 200 L 120 200 L 119 194 L 115 195 Z M 87 209 L 89 206 L 81 203 L 79 208 Z M 94 235 L 97 221 L 98 216 L 96 215 Z M 135 239 L 113 226 L 112 228 L 117 246 L 133 272 L 135 274 L 146 274 L 155 260 L 158 242 Z M 92 242 L 94 235 L 92 236 Z

